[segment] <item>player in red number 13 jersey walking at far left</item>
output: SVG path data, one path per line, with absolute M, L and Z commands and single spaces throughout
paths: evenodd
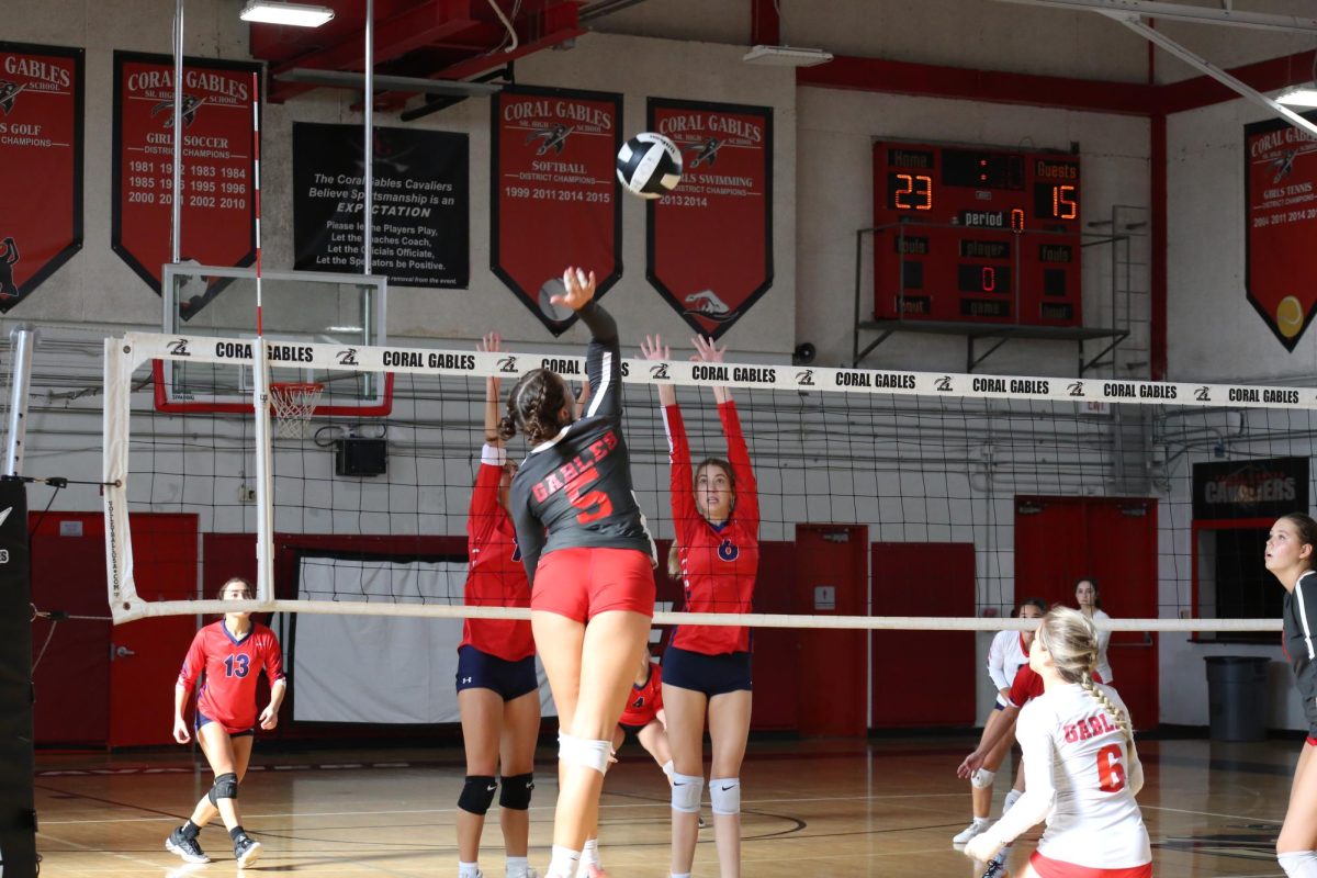
M 234 577 L 220 587 L 220 600 L 250 600 L 252 583 Z M 257 715 L 255 682 L 265 670 L 270 703 Z M 209 862 L 196 837 L 202 827 L 220 815 L 233 840 L 233 858 L 250 866 L 261 856 L 261 842 L 242 829 L 238 815 L 238 783 L 252 760 L 255 725 L 270 731 L 279 724 L 283 703 L 283 653 L 274 632 L 252 621 L 250 612 L 225 613 L 217 623 L 196 632 L 174 687 L 174 740 L 191 741 L 183 713 L 196 696 L 196 741 L 215 773 L 215 785 L 202 796 L 192 817 L 165 840 L 165 849 L 187 862 Z

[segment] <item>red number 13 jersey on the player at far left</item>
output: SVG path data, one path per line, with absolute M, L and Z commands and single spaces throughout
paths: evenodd
M 262 667 L 271 684 L 283 679 L 283 650 L 274 632 L 252 623 L 246 636 L 236 638 L 221 619 L 196 632 L 178 684 L 191 692 L 200 681 L 196 711 L 241 732 L 255 725 L 255 681 Z

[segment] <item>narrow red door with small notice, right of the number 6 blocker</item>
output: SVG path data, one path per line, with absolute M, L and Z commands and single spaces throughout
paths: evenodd
M 864 616 L 864 525 L 795 527 L 795 612 Z M 795 665 L 801 735 L 864 735 L 868 632 L 802 628 Z

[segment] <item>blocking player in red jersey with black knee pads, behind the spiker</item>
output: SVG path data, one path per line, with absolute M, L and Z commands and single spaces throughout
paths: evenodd
M 499 351 L 498 334 L 478 350 Z M 498 434 L 499 379 L 485 379 L 485 446 L 466 517 L 470 571 L 468 607 L 529 607 L 516 529 L 507 513 L 516 465 L 508 463 Z M 466 748 L 466 782 L 457 799 L 458 878 L 479 878 L 481 833 L 494 803 L 502 770 L 499 824 L 508 878 L 536 878 L 527 861 L 535 742 L 540 735 L 540 684 L 535 677 L 535 638 L 529 621 L 468 619 L 457 648 L 457 708 Z

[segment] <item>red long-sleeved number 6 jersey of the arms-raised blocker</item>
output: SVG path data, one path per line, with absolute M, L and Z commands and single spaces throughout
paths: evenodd
M 736 404 L 723 403 L 718 417 L 727 437 L 727 462 L 736 478 L 731 517 L 715 527 L 695 507 L 690 445 L 681 409 L 664 407 L 672 462 L 672 517 L 677 529 L 686 612 L 748 613 L 759 571 L 759 492 Z M 681 625 L 672 645 L 706 656 L 749 650 L 749 629 L 723 625 Z

